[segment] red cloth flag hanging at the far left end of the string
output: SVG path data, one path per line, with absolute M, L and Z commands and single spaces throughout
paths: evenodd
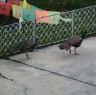
M 10 11 L 11 11 L 10 4 L 0 2 L 0 14 L 9 16 Z

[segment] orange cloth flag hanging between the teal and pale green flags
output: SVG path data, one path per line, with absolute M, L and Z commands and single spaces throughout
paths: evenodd
M 36 10 L 36 22 L 37 23 L 48 23 L 48 11 Z

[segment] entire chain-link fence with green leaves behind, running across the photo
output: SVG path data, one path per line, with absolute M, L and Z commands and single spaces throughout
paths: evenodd
M 62 12 L 60 16 L 65 20 L 61 19 L 57 25 L 22 22 L 0 27 L 0 56 L 8 55 L 9 49 L 25 39 L 38 38 L 37 47 L 40 47 L 61 42 L 85 30 L 89 34 L 96 32 L 96 6 Z M 66 19 L 72 21 L 66 22 Z

